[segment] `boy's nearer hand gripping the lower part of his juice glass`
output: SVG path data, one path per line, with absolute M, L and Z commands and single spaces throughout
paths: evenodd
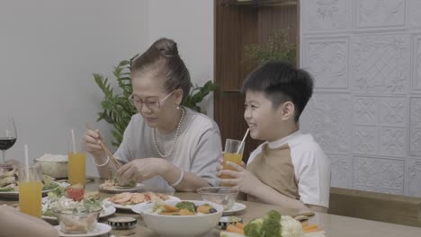
M 220 170 L 218 176 L 220 175 L 229 175 L 233 179 L 219 179 L 221 185 L 228 184 L 236 186 L 240 191 L 247 194 L 255 195 L 255 187 L 263 185 L 262 182 L 255 177 L 253 173 L 247 171 L 242 165 L 238 165 L 233 162 L 227 162 L 235 171 L 230 170 Z M 242 163 L 244 164 L 244 163 Z

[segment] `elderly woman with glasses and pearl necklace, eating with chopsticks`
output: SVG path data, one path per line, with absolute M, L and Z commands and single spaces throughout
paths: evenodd
M 190 92 L 189 71 L 174 40 L 160 39 L 131 66 L 139 111 L 124 132 L 114 156 L 125 163 L 116 175 L 148 186 L 193 191 L 216 185 L 221 156 L 219 128 L 207 116 L 181 106 Z M 87 130 L 85 149 L 94 156 L 102 178 L 115 169 L 99 145 L 98 130 Z

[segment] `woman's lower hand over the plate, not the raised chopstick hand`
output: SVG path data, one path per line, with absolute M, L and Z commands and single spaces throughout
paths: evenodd
M 123 181 L 142 182 L 164 173 L 168 162 L 159 158 L 142 158 L 128 162 L 115 173 Z

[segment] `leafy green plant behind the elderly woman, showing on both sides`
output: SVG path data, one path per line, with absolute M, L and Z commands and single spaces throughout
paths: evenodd
M 131 62 L 138 57 L 131 57 L 130 60 L 121 61 L 118 66 L 114 66 L 112 74 L 117 81 L 117 88 L 112 86 L 108 78 L 100 74 L 94 74 L 94 81 L 103 92 L 104 98 L 101 101 L 102 110 L 98 112 L 97 121 L 105 120 L 112 125 L 112 145 L 118 147 L 121 144 L 124 130 L 129 125 L 130 118 L 138 111 L 134 108 L 128 98 L 132 92 L 130 80 Z M 218 86 L 212 81 L 208 81 L 203 86 L 194 86 L 187 95 L 183 105 L 192 110 L 201 112 L 199 103 L 210 92 L 218 90 Z

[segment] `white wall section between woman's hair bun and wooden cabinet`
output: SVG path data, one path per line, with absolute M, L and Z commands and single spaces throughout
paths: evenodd
M 213 0 L 149 0 L 148 22 L 149 44 L 161 37 L 175 40 L 194 85 L 213 80 Z M 202 107 L 213 118 L 212 98 Z

